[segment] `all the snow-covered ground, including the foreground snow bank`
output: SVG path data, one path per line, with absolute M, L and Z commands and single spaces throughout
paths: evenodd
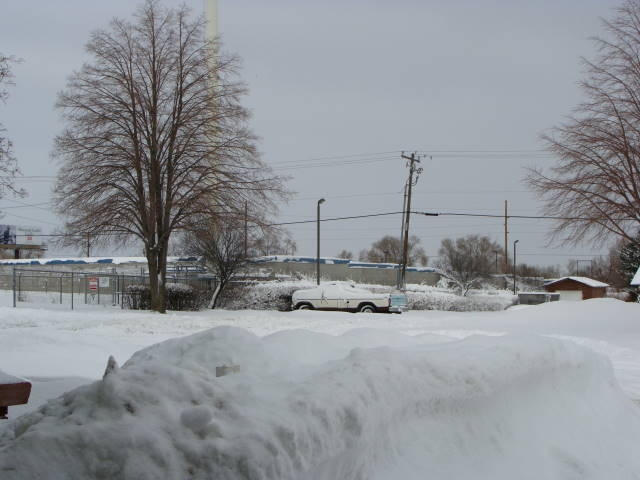
M 33 383 L 0 423 L 3 480 L 640 478 L 638 304 L 0 305 L 0 370 Z

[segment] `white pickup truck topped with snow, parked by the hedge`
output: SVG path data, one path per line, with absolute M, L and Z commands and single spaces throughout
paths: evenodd
M 327 283 L 296 290 L 292 306 L 294 310 L 401 313 L 407 310 L 407 297 L 403 293 L 372 293 L 352 285 Z

